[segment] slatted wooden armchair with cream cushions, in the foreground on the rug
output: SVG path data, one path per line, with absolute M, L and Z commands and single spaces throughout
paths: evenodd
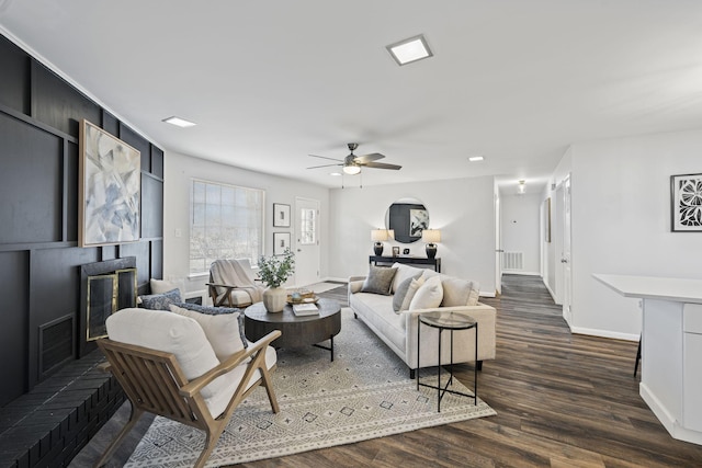
M 134 317 L 140 318 L 138 312 L 134 312 L 139 309 L 125 310 L 129 311 L 129 317 L 122 317 L 123 322 L 132 321 L 132 327 L 143 327 L 143 332 L 136 332 L 136 339 L 128 341 L 140 341 L 143 336 L 161 333 L 170 336 L 165 339 L 167 344 L 159 347 L 176 347 L 178 351 L 154 350 L 111 339 L 98 341 L 98 345 L 107 357 L 106 367 L 120 381 L 132 403 L 132 414 L 95 467 L 109 460 L 144 412 L 155 413 L 204 431 L 205 447 L 194 465 L 202 467 L 215 448 L 237 406 L 256 387 L 263 385 L 273 412 L 280 411 L 269 374 L 275 368 L 275 350 L 270 346 L 270 343 L 281 335 L 280 331 L 269 333 L 247 349 L 211 366 L 218 361 L 212 347 L 207 349 L 207 339 L 202 329 L 197 330 L 200 326 L 194 320 L 172 312 L 148 310 L 146 313 L 162 317 L 158 317 L 157 320 L 148 317 L 148 323 L 144 324 L 138 323 L 138 320 L 134 321 Z M 123 312 L 118 311 L 107 319 L 109 333 L 115 328 L 115 320 L 112 319 Z M 110 323 L 111 321 L 113 323 Z M 177 326 L 169 326 L 172 321 L 178 322 Z M 124 331 L 114 334 L 123 335 Z M 174 340 L 172 340 L 173 336 Z M 156 340 L 163 340 L 163 336 Z M 149 338 L 146 341 L 154 340 Z M 188 356 L 189 361 L 184 359 L 186 353 L 193 354 Z M 181 365 L 181 362 L 186 364 Z M 195 367 L 202 367 L 202 364 L 208 369 L 196 377 L 189 378 L 189 374 L 199 374 L 200 370 Z

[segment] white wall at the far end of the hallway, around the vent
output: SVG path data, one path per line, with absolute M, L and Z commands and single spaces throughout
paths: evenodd
M 539 275 L 541 237 L 541 194 L 501 195 L 502 249 L 505 252 L 523 252 L 524 267 L 521 273 Z

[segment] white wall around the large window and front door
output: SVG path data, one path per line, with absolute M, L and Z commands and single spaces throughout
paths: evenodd
M 327 276 L 326 259 L 329 248 L 329 190 L 326 187 L 284 179 L 260 172 L 247 171 L 231 165 L 219 164 L 173 151 L 165 156 L 163 186 L 163 278 L 180 282 L 186 292 L 200 292 L 205 288 L 206 276 L 189 278 L 189 231 L 190 231 L 190 190 L 191 180 L 202 179 L 265 191 L 265 254 L 272 254 L 273 231 L 288 231 L 294 238 L 294 222 L 291 228 L 273 229 L 273 203 L 295 206 L 295 197 L 318 199 L 320 203 L 320 276 Z M 294 208 L 293 208 L 294 210 Z M 294 215 L 294 213 L 293 213 Z M 180 230 L 181 236 L 176 237 Z M 293 246 L 295 244 L 293 240 Z M 294 279 L 288 281 L 294 283 Z

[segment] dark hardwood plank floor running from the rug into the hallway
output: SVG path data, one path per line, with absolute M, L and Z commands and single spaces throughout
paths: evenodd
M 321 296 L 346 304 L 346 288 Z M 497 358 L 478 390 L 496 416 L 237 466 L 702 466 L 702 446 L 670 437 L 638 396 L 636 343 L 571 334 L 539 277 L 506 275 L 483 301 L 497 308 Z

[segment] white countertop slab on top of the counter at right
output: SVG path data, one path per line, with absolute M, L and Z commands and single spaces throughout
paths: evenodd
M 624 297 L 702 304 L 702 279 L 593 274 Z

